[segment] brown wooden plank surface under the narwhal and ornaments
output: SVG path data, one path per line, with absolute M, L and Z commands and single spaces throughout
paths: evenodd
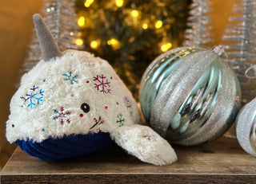
M 154 166 L 111 147 L 91 155 L 42 162 L 20 148 L 1 172 L 1 183 L 256 183 L 256 158 L 236 139 L 177 147 L 178 161 Z

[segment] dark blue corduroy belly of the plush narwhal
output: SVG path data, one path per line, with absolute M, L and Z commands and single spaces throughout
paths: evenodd
M 33 139 L 17 140 L 16 143 L 28 155 L 44 161 L 65 159 L 78 155 L 86 155 L 114 144 L 109 133 L 99 132 L 87 135 L 64 135 L 62 138 L 48 138 L 41 143 Z

